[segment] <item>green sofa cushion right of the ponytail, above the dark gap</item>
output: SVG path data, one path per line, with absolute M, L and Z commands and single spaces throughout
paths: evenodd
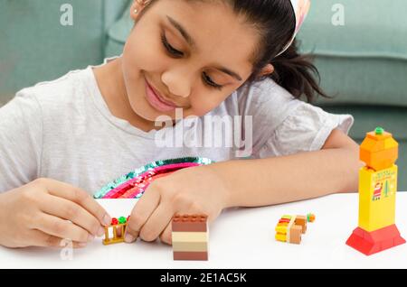
M 407 106 L 407 1 L 313 1 L 298 34 L 302 52 L 316 55 L 322 87 L 334 100 Z M 335 25 L 338 9 L 345 25 Z M 340 12 L 339 12 L 340 13 Z

